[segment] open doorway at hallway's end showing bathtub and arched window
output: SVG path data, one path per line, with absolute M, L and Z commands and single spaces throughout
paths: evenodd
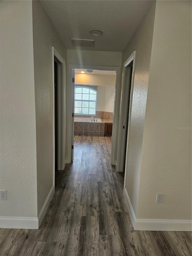
M 116 71 L 75 69 L 74 75 L 74 139 L 85 137 L 88 143 L 94 136 L 102 144 L 113 131 Z M 111 148 L 111 139 L 107 145 Z M 79 155 L 79 147 L 73 154 Z

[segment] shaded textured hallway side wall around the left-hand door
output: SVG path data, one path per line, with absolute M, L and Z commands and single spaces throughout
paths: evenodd
M 66 64 L 67 50 L 39 1 L 32 7 L 39 214 L 53 185 L 52 46 Z

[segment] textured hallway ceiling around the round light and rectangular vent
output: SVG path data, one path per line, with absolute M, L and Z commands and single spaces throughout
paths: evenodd
M 40 1 L 67 49 L 122 52 L 153 1 Z M 103 32 L 90 35 L 91 30 Z M 74 47 L 71 38 L 94 39 L 94 47 Z

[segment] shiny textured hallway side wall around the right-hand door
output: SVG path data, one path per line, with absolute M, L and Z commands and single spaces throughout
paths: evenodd
M 140 27 L 123 51 L 122 65 L 136 50 L 133 101 L 128 134 L 127 161 L 125 166 L 125 188 L 128 192 L 135 215 L 139 191 L 141 151 L 143 129 L 149 81 L 149 69 L 152 49 L 153 26 L 155 18 L 155 2 L 144 17 Z

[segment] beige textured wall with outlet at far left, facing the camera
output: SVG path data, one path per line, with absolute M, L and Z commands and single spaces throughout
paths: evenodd
M 0 216 L 37 217 L 32 1 L 1 1 L 0 18 Z

